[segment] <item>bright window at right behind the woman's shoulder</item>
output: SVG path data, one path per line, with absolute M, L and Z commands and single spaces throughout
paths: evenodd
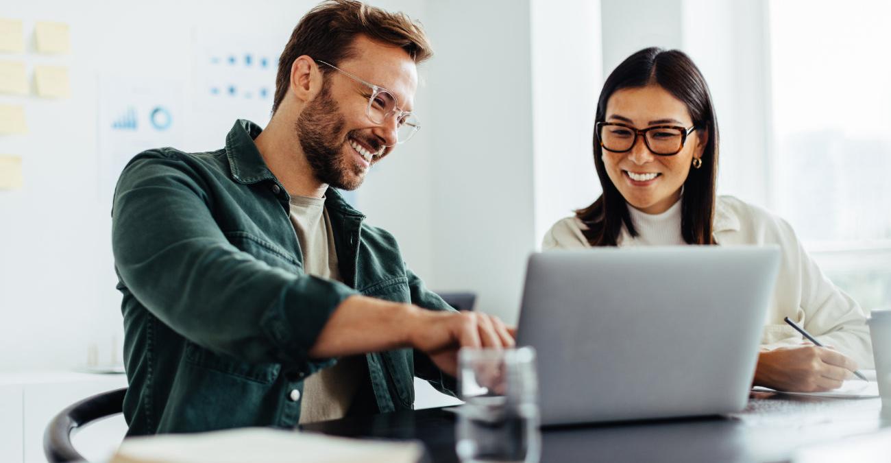
M 772 0 L 772 203 L 833 281 L 891 303 L 891 3 Z

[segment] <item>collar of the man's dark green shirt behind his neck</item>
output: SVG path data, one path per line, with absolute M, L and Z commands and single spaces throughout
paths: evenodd
M 274 180 L 275 176 L 263 161 L 263 156 L 254 144 L 254 138 L 263 128 L 249 120 L 236 120 L 232 130 L 225 136 L 225 154 L 229 158 L 232 178 L 242 184 L 254 184 L 262 180 Z

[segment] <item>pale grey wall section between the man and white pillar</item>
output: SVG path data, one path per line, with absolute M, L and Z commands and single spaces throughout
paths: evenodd
M 535 248 L 529 2 L 432 1 L 428 64 L 435 269 L 512 322 Z

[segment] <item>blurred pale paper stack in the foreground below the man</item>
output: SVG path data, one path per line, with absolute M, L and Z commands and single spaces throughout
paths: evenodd
M 419 442 L 347 439 L 254 427 L 125 439 L 111 463 L 415 463 L 422 455 Z

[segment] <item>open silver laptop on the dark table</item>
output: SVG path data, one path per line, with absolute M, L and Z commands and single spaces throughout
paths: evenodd
M 533 254 L 517 341 L 542 424 L 743 409 L 779 265 L 777 246 Z

